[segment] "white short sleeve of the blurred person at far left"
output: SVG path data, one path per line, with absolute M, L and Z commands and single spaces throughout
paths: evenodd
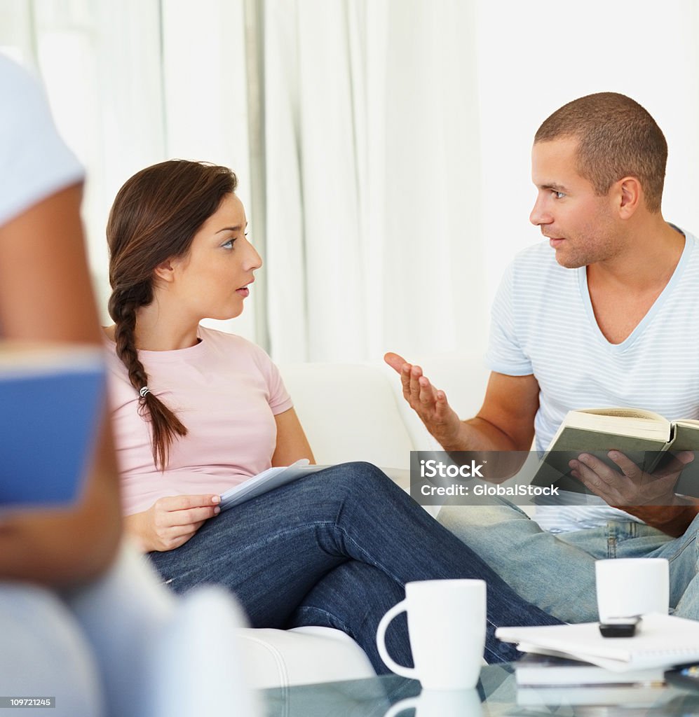
M 57 133 L 39 82 L 0 54 L 0 224 L 84 171 Z

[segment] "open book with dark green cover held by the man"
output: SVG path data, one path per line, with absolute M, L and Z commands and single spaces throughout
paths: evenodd
M 699 421 L 668 421 L 660 414 L 637 408 L 591 408 L 570 411 L 560 424 L 533 485 L 557 484 L 563 490 L 586 493 L 583 483 L 571 478 L 568 462 L 582 452 L 619 470 L 607 453 L 618 450 L 647 473 L 662 467 L 670 453 L 699 450 Z M 699 457 L 680 475 L 675 493 L 699 497 Z

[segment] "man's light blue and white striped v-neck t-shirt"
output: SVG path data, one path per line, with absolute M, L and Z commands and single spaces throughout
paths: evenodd
M 699 418 L 699 248 L 684 233 L 670 281 L 618 344 L 597 325 L 586 267 L 560 266 L 548 242 L 520 252 L 508 267 L 492 308 L 487 361 L 500 374 L 537 379 L 537 450 L 573 409 L 626 406 L 670 420 Z M 541 506 L 535 520 L 560 532 L 629 517 L 603 504 Z

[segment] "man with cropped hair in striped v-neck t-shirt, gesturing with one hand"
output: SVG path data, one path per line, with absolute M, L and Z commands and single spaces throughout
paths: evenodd
M 699 249 L 662 217 L 667 143 L 624 95 L 588 95 L 540 126 L 530 221 L 545 242 L 520 252 L 492 308 L 492 369 L 477 416 L 395 353 L 403 395 L 445 450 L 545 450 L 572 409 L 629 406 L 699 418 Z M 613 453 L 621 473 L 582 454 L 573 475 L 599 499 L 546 505 L 534 519 L 502 500 L 445 506 L 439 520 L 522 597 L 560 619 L 597 617 L 594 561 L 664 557 L 677 614 L 699 619 L 693 545 L 699 509 L 672 481 Z M 683 462 L 691 455 L 680 455 Z M 652 490 L 652 493 L 649 493 Z M 624 506 L 624 511 L 611 506 Z

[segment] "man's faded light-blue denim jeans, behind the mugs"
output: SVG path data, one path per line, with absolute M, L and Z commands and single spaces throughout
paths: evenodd
M 670 607 L 680 617 L 699 619 L 699 516 L 679 538 L 634 521 L 554 535 L 502 499 L 445 505 L 437 519 L 524 599 L 566 622 L 598 617 L 596 560 L 639 557 L 669 561 Z

